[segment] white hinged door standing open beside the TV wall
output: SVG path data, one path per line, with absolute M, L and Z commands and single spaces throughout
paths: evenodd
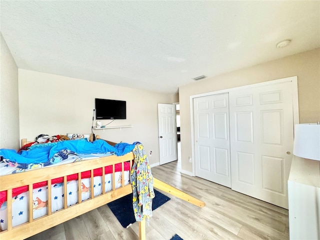
M 178 159 L 175 104 L 158 103 L 160 165 Z

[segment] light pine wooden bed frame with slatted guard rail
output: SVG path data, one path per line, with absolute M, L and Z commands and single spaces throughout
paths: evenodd
M 26 139 L 22 139 L 22 145 L 26 144 Z M 108 141 L 112 145 L 113 142 Z M 130 184 L 124 183 L 124 162 L 129 162 L 131 166 L 134 161 L 134 155 L 129 152 L 122 156 L 110 155 L 105 157 L 99 157 L 79 162 L 72 162 L 62 165 L 50 166 L 49 168 L 38 168 L 25 172 L 14 173 L 0 176 L 0 191 L 7 192 L 7 216 L 12 216 L 12 189 L 20 186 L 28 186 L 28 221 L 12 226 L 11 217 L 7 217 L 7 229 L 0 232 L 0 239 L 24 239 L 41 231 L 44 231 L 50 227 L 74 218 L 87 211 L 95 209 L 101 205 L 118 199 L 124 195 L 130 194 L 132 188 Z M 121 164 L 121 186 L 115 187 L 115 165 Z M 104 190 L 104 168 L 105 166 L 112 166 L 112 189 L 105 192 Z M 76 204 L 67 205 L 67 197 L 64 197 L 63 208 L 57 211 L 51 211 L 51 191 L 47 191 L 47 214 L 39 218 L 33 219 L 33 198 L 32 189 L 33 184 L 37 182 L 45 181 L 47 188 L 51 189 L 51 180 L 58 177 L 63 177 L 63 191 L 64 195 L 67 196 L 67 176 L 71 174 L 77 174 L 78 179 L 81 179 L 81 172 L 90 171 L 91 186 L 93 186 L 93 172 L 94 169 L 101 168 L 102 170 L 102 194 L 94 196 L 93 190 L 90 192 L 91 196 L 87 200 L 81 200 L 81 181 L 78 180 L 78 201 Z M 204 202 L 158 180 L 153 179 L 153 186 L 172 195 L 175 195 L 183 200 L 186 200 L 199 207 L 204 206 Z M 139 221 L 139 239 L 145 239 L 145 220 Z

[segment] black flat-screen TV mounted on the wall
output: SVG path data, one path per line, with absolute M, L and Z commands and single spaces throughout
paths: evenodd
M 95 98 L 95 119 L 126 119 L 126 101 Z

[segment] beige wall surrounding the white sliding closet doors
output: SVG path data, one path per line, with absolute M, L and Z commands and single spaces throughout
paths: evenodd
M 181 168 L 191 172 L 190 95 L 288 76 L 298 78 L 300 123 L 320 120 L 320 48 L 203 79 L 179 88 Z

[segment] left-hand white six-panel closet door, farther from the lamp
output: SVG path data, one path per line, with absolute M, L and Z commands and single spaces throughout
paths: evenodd
M 195 175 L 231 187 L 228 93 L 193 99 Z

